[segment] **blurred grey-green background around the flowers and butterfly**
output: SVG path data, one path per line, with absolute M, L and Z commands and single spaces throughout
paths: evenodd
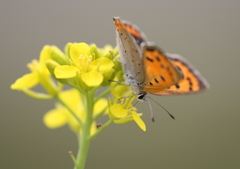
M 152 103 L 138 104 L 147 131 L 113 124 L 93 140 L 86 169 L 240 168 L 240 1 L 0 2 L 0 168 L 73 168 L 77 140 L 67 126 L 50 130 L 42 117 L 55 101 L 11 91 L 26 64 L 46 44 L 116 45 L 112 17 L 137 24 L 167 52 L 187 58 L 210 83 L 199 95 L 157 97 L 176 117 Z M 99 121 L 104 123 L 106 119 Z

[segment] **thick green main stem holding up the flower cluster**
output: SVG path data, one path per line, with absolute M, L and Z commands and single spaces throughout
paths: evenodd
M 86 120 L 82 126 L 82 133 L 79 135 L 79 150 L 77 154 L 77 166 L 74 169 L 84 169 L 87 153 L 90 146 L 90 131 L 93 123 L 94 91 L 86 92 L 87 111 Z

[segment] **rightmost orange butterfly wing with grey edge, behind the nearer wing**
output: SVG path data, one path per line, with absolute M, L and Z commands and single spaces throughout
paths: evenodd
M 152 94 L 156 95 L 182 95 L 202 92 L 209 88 L 207 81 L 186 59 L 177 54 L 168 54 L 169 60 L 182 72 L 184 78 L 176 85 Z

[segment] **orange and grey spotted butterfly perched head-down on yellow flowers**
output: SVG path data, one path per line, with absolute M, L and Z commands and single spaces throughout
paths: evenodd
M 119 17 L 114 17 L 113 20 L 126 85 L 131 86 L 138 100 L 149 103 L 148 93 L 160 96 L 183 95 L 209 88 L 198 70 L 182 56 L 164 53 L 130 22 L 122 21 Z M 170 113 L 169 115 L 173 117 Z M 154 121 L 153 115 L 152 120 Z

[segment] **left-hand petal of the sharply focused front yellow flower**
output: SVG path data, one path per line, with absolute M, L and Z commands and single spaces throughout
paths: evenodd
M 58 79 L 67 79 L 67 78 L 72 78 L 77 75 L 78 68 L 75 66 L 57 66 L 54 69 L 54 74 L 56 78 Z

